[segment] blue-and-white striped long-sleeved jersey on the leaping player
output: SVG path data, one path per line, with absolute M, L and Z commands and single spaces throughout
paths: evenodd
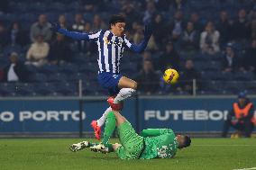
M 149 41 L 142 40 L 142 43 L 135 45 L 126 39 L 126 36 L 117 37 L 111 31 L 96 31 L 94 33 L 67 31 L 60 28 L 62 33 L 75 40 L 92 40 L 97 43 L 98 48 L 98 67 L 99 72 L 109 72 L 114 74 L 120 73 L 120 61 L 123 56 L 124 49 L 131 49 L 134 52 L 142 52 Z

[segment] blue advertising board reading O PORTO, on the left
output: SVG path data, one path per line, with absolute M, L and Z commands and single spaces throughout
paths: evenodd
M 78 103 L 78 100 L 0 101 L 0 132 L 78 132 Z M 134 109 L 133 100 L 127 101 L 128 105 Z M 92 131 L 91 121 L 100 118 L 107 107 L 105 101 L 85 101 L 83 130 Z M 131 116 L 129 121 L 134 124 L 134 111 L 131 111 L 133 116 L 127 113 Z

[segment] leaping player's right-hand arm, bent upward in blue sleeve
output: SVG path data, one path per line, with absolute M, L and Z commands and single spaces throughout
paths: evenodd
M 126 44 L 129 49 L 133 50 L 134 52 L 140 53 L 144 49 L 146 49 L 148 42 L 151 38 L 151 34 L 152 34 L 151 24 L 147 24 L 147 25 L 145 25 L 144 39 L 142 40 L 142 42 L 140 44 L 136 45 L 136 44 L 129 42 L 128 40 L 125 40 L 125 41 L 126 41 Z

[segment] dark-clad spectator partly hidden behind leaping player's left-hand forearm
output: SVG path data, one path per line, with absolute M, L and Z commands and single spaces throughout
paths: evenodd
M 85 23 L 82 13 L 77 13 L 75 15 L 75 22 L 72 24 L 72 31 L 85 31 Z M 79 51 L 85 51 L 85 40 L 74 40 L 74 42 Z

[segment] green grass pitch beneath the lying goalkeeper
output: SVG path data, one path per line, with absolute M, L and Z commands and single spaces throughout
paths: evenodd
M 120 160 L 114 153 L 76 153 L 81 139 L 0 139 L 1 170 L 232 170 L 256 167 L 256 139 L 192 139 L 171 159 Z M 90 140 L 91 141 L 91 140 Z M 113 141 L 113 140 L 112 140 Z M 115 140 L 114 140 L 115 141 Z

